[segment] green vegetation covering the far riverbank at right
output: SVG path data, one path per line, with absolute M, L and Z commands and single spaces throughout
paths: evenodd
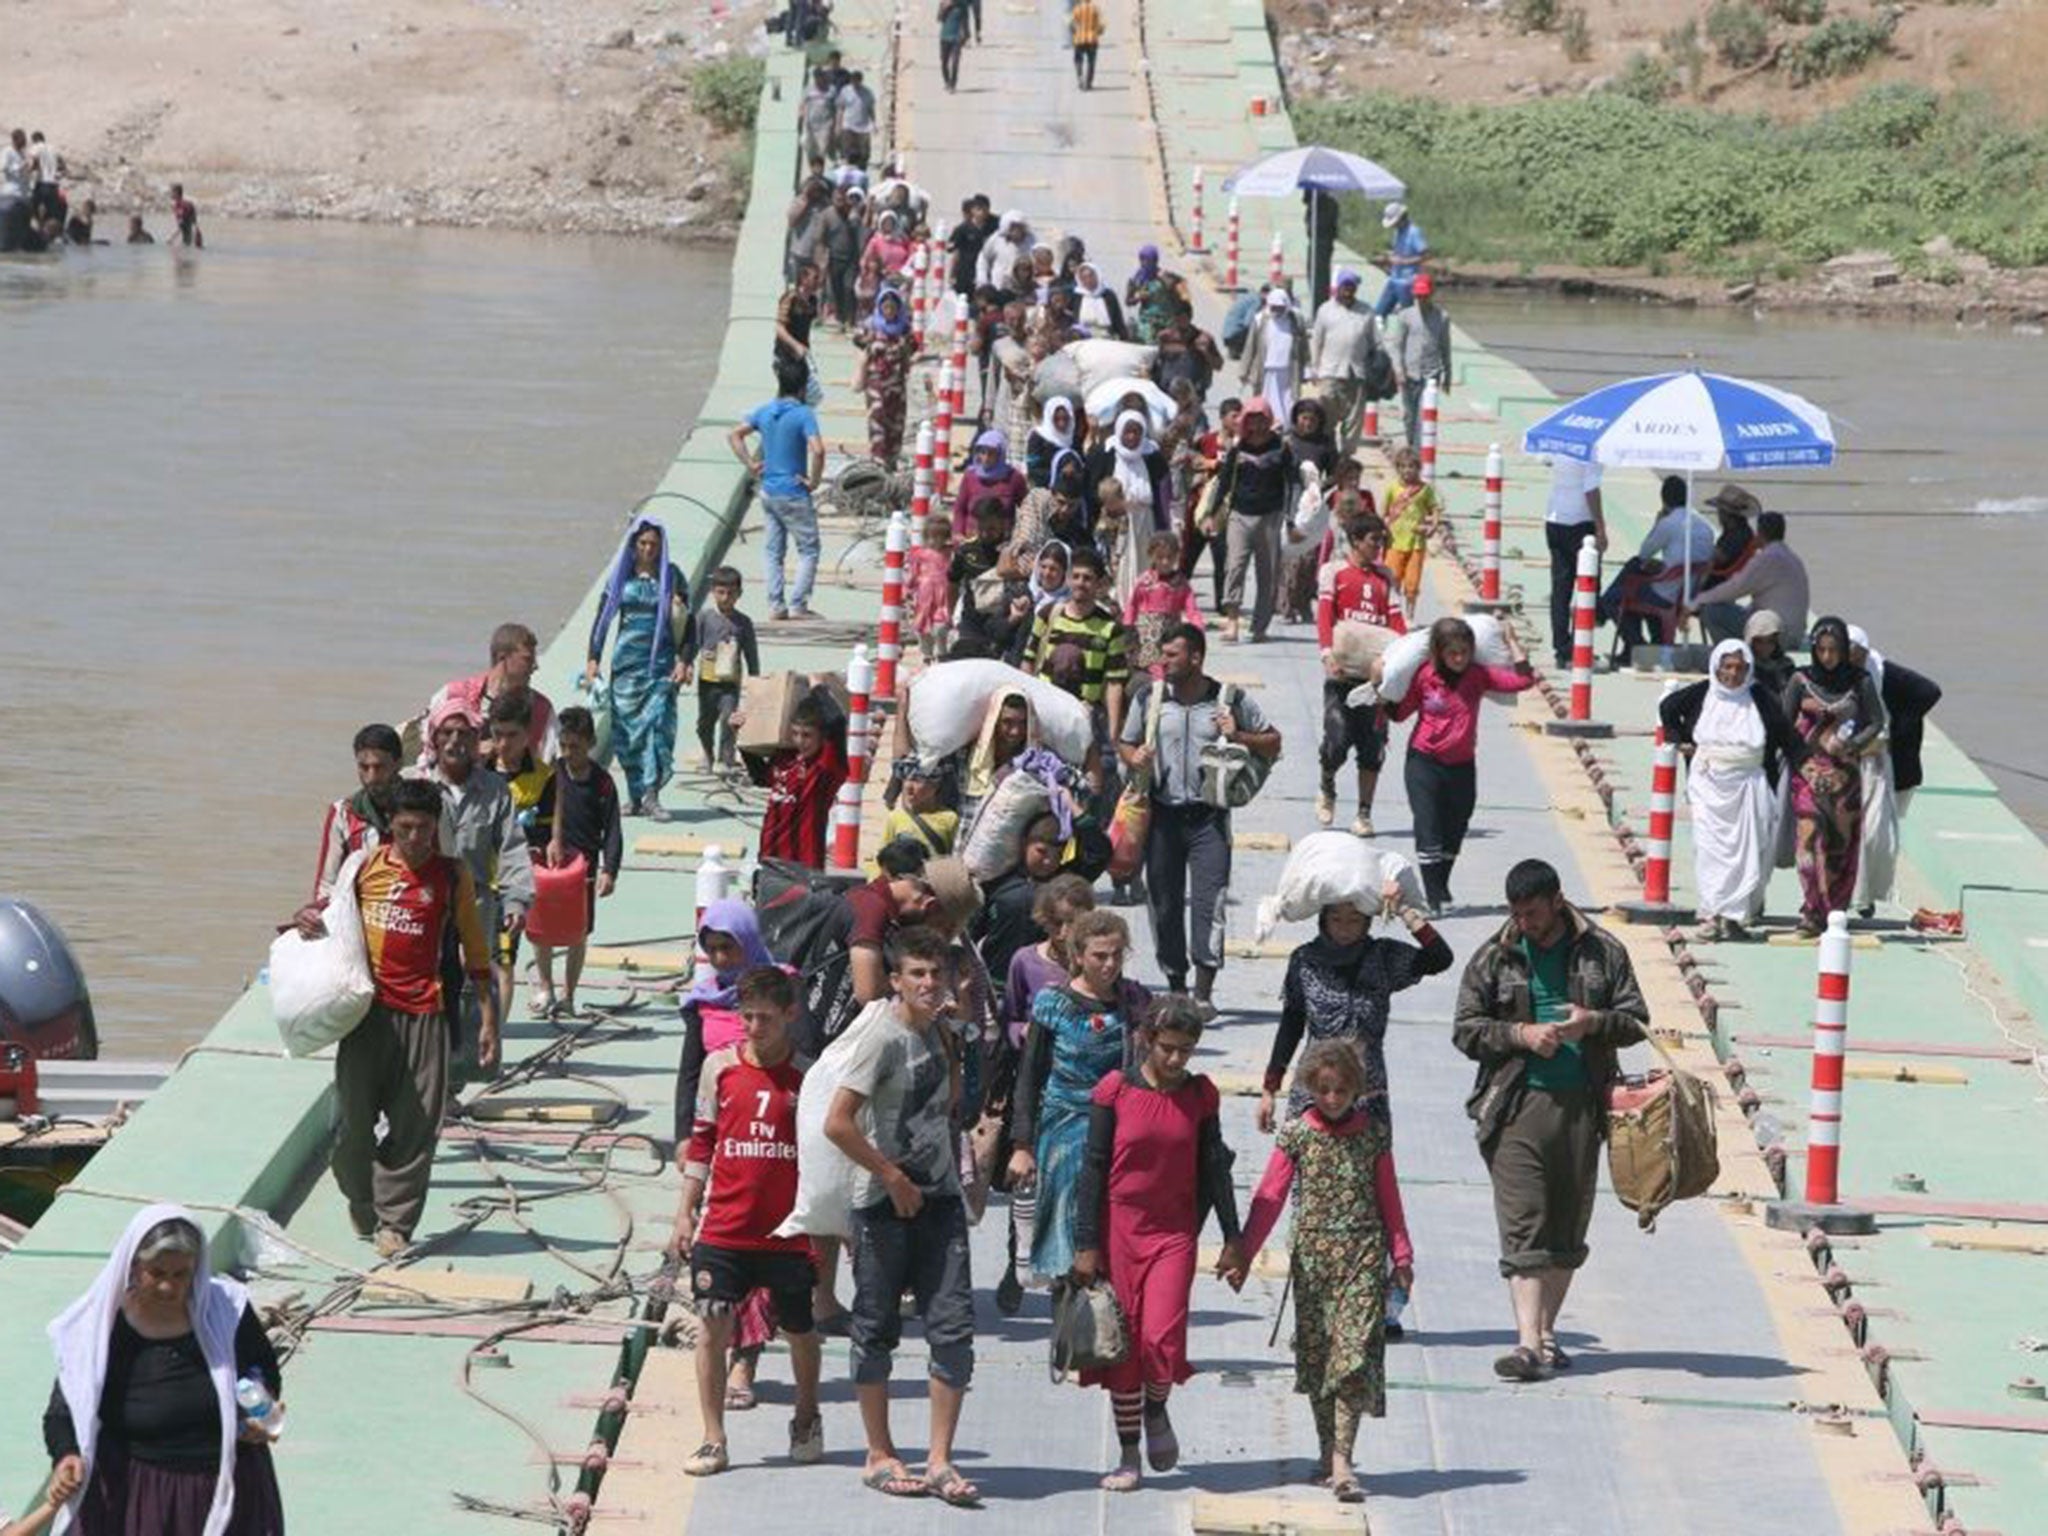
M 2048 264 L 2048 127 L 1976 94 L 1872 86 L 1798 123 L 1622 88 L 1511 104 L 1368 92 L 1292 113 L 1303 141 L 1407 180 L 1454 262 L 1743 279 L 1882 250 L 1937 281 L 1968 254 Z

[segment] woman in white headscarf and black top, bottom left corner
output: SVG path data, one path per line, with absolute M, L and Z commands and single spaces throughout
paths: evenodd
M 281 1397 L 276 1352 L 188 1210 L 137 1212 L 49 1341 L 43 1442 L 82 1487 L 55 1536 L 283 1536 L 270 1436 L 236 1403 L 242 1378 Z

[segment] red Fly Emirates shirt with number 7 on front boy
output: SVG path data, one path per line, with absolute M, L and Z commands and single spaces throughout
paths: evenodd
M 772 1237 L 797 1206 L 797 1092 L 803 1067 L 795 1059 L 756 1067 L 729 1044 L 705 1057 L 696 1087 L 696 1124 L 684 1174 L 705 1178 L 705 1208 L 696 1241 L 711 1247 L 807 1253 L 807 1237 Z

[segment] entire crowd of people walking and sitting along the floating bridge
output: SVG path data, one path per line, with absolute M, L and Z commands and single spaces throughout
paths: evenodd
M 944 14 L 950 84 L 979 8 L 948 0 Z M 1079 0 L 1075 16 L 1085 88 L 1100 12 Z M 893 168 L 868 186 L 874 100 L 836 55 L 799 119 L 811 176 L 788 215 L 776 395 L 731 430 L 758 477 L 770 621 L 813 616 L 825 463 L 815 328 L 854 336 L 868 449 L 895 465 L 920 356 L 907 283 L 932 213 Z M 10 184 L 18 174 L 10 160 Z M 1339 655 L 1348 629 L 1423 629 L 1423 561 L 1444 508 L 1411 449 L 1391 455 L 1378 492 L 1356 455 L 1368 401 L 1399 393 L 1413 424 L 1421 387 L 1450 385 L 1427 246 L 1405 209 L 1391 211 L 1395 281 L 1380 313 L 1360 303 L 1360 274 L 1339 268 L 1307 315 L 1286 285 L 1247 295 L 1219 344 L 1155 248 L 1116 289 L 1079 236 L 1055 250 L 1022 211 L 995 217 L 983 195 L 961 215 L 946 287 L 969 305 L 979 416 L 958 489 L 934 506 L 909 559 L 924 668 L 899 707 L 899 756 L 881 764 L 891 809 L 872 864 L 852 879 L 825 870 L 850 772 L 844 692 L 805 680 L 780 735 L 760 745 L 766 723 L 739 709 L 762 672 L 741 571 L 713 569 L 698 600 L 670 530 L 635 518 L 575 702 L 557 707 L 535 686 L 539 641 L 506 623 L 485 670 L 451 680 L 416 719 L 352 739 L 356 788 L 328 807 L 293 920 L 319 936 L 346 897 L 375 981 L 369 1016 L 336 1055 L 334 1180 L 356 1235 L 401 1260 L 457 1087 L 496 1071 L 504 1022 L 520 1016 L 528 915 L 561 879 L 582 883 L 582 938 L 530 946 L 526 1016 L 584 1014 L 584 950 L 621 872 L 623 819 L 666 815 L 682 688 L 694 682 L 698 770 L 743 768 L 766 795 L 752 897 L 698 915 L 674 1022 L 682 1192 L 670 1260 L 698 1319 L 705 1425 L 682 1470 L 731 1464 L 727 1415 L 756 1407 L 774 1335 L 795 1378 L 788 1456 L 821 1460 L 821 1337 L 836 1335 L 850 1343 L 862 1483 L 979 1503 L 954 1456 L 975 1376 L 969 1227 L 999 1196 L 1001 1315 L 1022 1315 L 1034 1292 L 1114 1294 L 1128 1348 L 1079 1380 L 1108 1393 L 1116 1458 L 1102 1487 L 1137 1491 L 1180 1462 L 1171 1405 L 1196 1364 L 1204 1227 L 1214 1219 L 1214 1272 L 1235 1288 L 1292 1208 L 1294 1386 L 1309 1399 L 1315 1481 L 1356 1503 L 1356 1438 L 1386 1413 L 1386 1346 L 1403 1337 L 1427 1237 L 1409 1227 L 1393 1155 L 1391 999 L 1458 965 L 1434 924 L 1456 909 L 1481 707 L 1536 680 L 1511 627 L 1505 662 L 1489 662 L 1462 618 L 1425 627 L 1399 698 L 1360 686 Z M 1135 348 L 1118 354 L 1133 371 L 1092 389 L 1085 369 L 1108 365 L 1075 356 L 1090 344 Z M 1243 391 L 1210 416 L 1225 352 Z M 1829 911 L 1868 911 L 1888 895 L 1896 817 L 1939 690 L 1839 618 L 1812 625 L 1810 659 L 1790 655 L 1808 639 L 1804 567 L 1786 520 L 1749 492 L 1729 485 L 1704 502 L 1718 532 L 1683 481 L 1661 502 L 1602 612 L 1630 639 L 1655 627 L 1675 641 L 1694 614 L 1718 639 L 1708 678 L 1661 705 L 1690 762 L 1704 936 L 1743 936 L 1782 862 L 1798 866 L 1802 932 Z M 1559 594 L 1579 543 L 1606 547 L 1597 469 L 1556 465 L 1548 535 L 1552 641 L 1569 664 Z M 1212 616 L 1198 594 L 1204 551 Z M 1391 731 L 1413 721 L 1403 782 L 1421 897 L 1386 879 L 1325 901 L 1315 936 L 1288 956 L 1255 1110 L 1272 1147 L 1239 1212 L 1219 1090 L 1192 1059 L 1225 1014 L 1214 987 L 1231 817 L 1262 793 L 1284 743 L 1243 686 L 1208 670 L 1208 649 L 1210 627 L 1225 643 L 1257 643 L 1274 623 L 1315 625 L 1319 827 L 1335 825 L 1337 778 L 1352 766 L 1350 834 L 1376 838 Z M 1014 670 L 948 684 L 967 676 L 948 668 L 989 659 Z M 909 729 L 920 690 L 965 711 L 950 737 Z M 1589 1257 L 1604 1096 L 1649 1016 L 1628 950 L 1567 899 L 1552 866 L 1518 862 L 1503 899 L 1505 922 L 1464 956 L 1446 1047 L 1477 1067 L 1468 1112 L 1513 1317 L 1513 1346 L 1493 1368 L 1540 1382 L 1573 1366 L 1559 1315 Z M 1112 909 L 1139 901 L 1149 965 Z M 815 1139 L 799 1130 L 807 1092 L 829 1094 Z M 846 1219 L 805 1227 L 799 1210 L 823 1184 Z M 905 1294 L 930 1360 L 922 1468 L 891 1430 Z M 141 1212 L 53 1339 L 45 1518 L 76 1509 L 88 1536 L 283 1528 L 270 1436 L 250 1407 L 281 1399 L 276 1356 L 240 1286 L 209 1272 L 190 1212 Z

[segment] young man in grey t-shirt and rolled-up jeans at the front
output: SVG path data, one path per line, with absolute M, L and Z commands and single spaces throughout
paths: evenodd
M 883 1493 L 979 1503 L 952 1464 L 961 1401 L 975 1374 L 975 1290 L 967 1206 L 952 1141 L 958 1069 L 942 1042 L 948 948 L 934 928 L 905 928 L 889 948 L 895 999 L 854 1038 L 825 1110 L 825 1137 L 854 1174 L 852 1366 L 868 1454 L 862 1481 Z M 930 1352 L 932 1446 L 911 1477 L 889 1432 L 889 1372 L 903 1337 L 903 1292 L 918 1300 Z

